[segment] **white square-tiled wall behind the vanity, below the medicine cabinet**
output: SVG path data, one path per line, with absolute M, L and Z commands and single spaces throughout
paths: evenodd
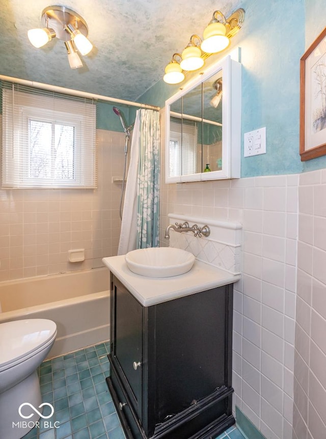
M 242 224 L 242 282 L 234 286 L 234 402 L 267 438 L 292 439 L 298 176 L 173 185 L 162 180 L 161 187 L 161 243 L 170 212 Z M 309 224 L 300 230 L 308 242 Z M 308 269 L 322 280 L 321 264 L 313 267 L 312 256 L 312 250 L 302 255 L 301 266 L 308 260 Z

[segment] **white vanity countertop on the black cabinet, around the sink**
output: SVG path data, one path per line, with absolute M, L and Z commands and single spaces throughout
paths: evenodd
M 136 275 L 127 267 L 125 255 L 103 258 L 102 261 L 145 307 L 231 284 L 240 279 L 240 275 L 232 275 L 228 271 L 197 260 L 190 271 L 171 278 L 147 278 Z

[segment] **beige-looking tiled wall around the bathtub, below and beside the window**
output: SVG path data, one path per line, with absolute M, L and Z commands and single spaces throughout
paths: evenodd
M 98 189 L 0 189 L 0 281 L 101 266 L 117 252 L 124 134 L 97 130 Z M 121 174 L 121 175 L 120 175 Z M 68 250 L 85 261 L 68 262 Z

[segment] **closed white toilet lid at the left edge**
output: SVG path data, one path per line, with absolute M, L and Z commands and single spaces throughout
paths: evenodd
M 56 335 L 52 320 L 15 320 L 0 324 L 0 366 L 19 360 L 39 349 Z

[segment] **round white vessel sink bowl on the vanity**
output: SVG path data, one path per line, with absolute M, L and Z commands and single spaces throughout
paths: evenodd
M 170 278 L 183 275 L 195 262 L 192 253 L 173 247 L 155 247 L 129 252 L 125 256 L 129 270 L 148 278 Z

